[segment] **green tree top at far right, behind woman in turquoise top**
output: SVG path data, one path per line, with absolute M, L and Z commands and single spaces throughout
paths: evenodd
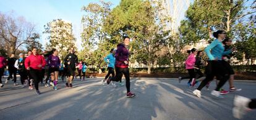
M 250 4 L 250 6 L 248 6 Z M 229 38 L 234 38 L 239 48 L 236 57 L 242 59 L 254 57 L 255 23 L 249 22 L 250 15 L 255 16 L 256 1 L 249 0 L 198 0 L 190 5 L 186 19 L 182 20 L 179 32 L 187 43 L 200 39 L 211 41 L 213 30 L 228 31 Z M 247 46 L 250 45 L 250 46 Z

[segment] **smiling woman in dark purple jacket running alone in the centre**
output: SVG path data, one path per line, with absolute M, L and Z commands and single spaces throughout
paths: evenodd
M 109 84 L 111 81 L 121 81 L 122 74 L 124 74 L 126 78 L 126 89 L 127 94 L 126 96 L 128 98 L 135 97 L 135 94 L 130 92 L 130 73 L 129 73 L 129 50 L 127 49 L 127 46 L 129 46 L 130 38 L 124 37 L 124 41 L 121 44 L 117 45 L 117 50 L 115 54 L 116 58 L 116 76 L 113 78 L 109 78 L 107 80 L 107 83 Z

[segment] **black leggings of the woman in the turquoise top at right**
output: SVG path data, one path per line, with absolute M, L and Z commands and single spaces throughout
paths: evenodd
M 208 82 L 212 81 L 214 76 L 216 76 L 216 78 L 220 80 L 220 82 L 218 83 L 215 90 L 219 91 L 220 88 L 229 79 L 228 69 L 225 66 L 223 60 L 209 61 L 207 68 L 205 69 L 205 74 L 206 78 L 201 82 L 200 86 L 198 86 L 197 90 L 203 89 L 203 87 L 205 87 L 208 84 Z

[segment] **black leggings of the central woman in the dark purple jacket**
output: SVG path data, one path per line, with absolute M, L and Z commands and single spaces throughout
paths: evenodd
M 126 89 L 127 93 L 130 92 L 130 73 L 129 68 L 117 68 L 116 67 L 116 76 L 112 77 L 111 81 L 121 81 L 122 74 L 124 74 L 124 77 L 126 78 Z

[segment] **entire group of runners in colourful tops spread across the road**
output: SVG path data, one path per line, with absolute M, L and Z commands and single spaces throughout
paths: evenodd
M 205 48 L 208 60 L 204 62 L 202 59 L 203 51 L 195 48 L 189 50 L 189 57 L 186 60 L 186 70 L 189 73 L 188 77 L 179 77 L 179 82 L 182 79 L 189 78 L 187 85 L 189 87 L 197 88 L 192 92 L 196 97 L 202 97 L 201 90 L 203 87 L 209 88 L 210 82 L 216 79 L 216 88 L 211 91 L 211 95 L 218 98 L 223 98 L 223 94 L 229 92 L 239 91 L 234 86 L 234 70 L 230 65 L 230 58 L 236 48 L 231 48 L 232 39 L 226 36 L 226 31 L 218 30 L 213 33 L 216 38 L 211 42 L 209 46 Z M 123 42 L 117 45 L 117 49 L 111 49 L 110 54 L 107 55 L 104 60 L 108 63 L 108 74 L 103 79 L 102 84 L 111 84 L 116 87 L 114 82 L 119 82 L 120 86 L 124 86 L 122 83 L 122 76 L 124 74 L 126 79 L 127 97 L 135 97 L 135 94 L 130 91 L 130 73 L 129 73 L 129 46 L 130 38 L 124 37 Z M 16 83 L 17 70 L 20 74 L 20 81 L 22 87 L 24 82 L 28 81 L 29 89 L 33 89 L 35 86 L 36 94 L 40 94 L 38 84 L 41 81 L 43 83 L 43 77 L 46 73 L 45 86 L 53 86 L 54 90 L 57 90 L 57 84 L 59 76 L 62 81 L 67 76 L 66 87 L 73 87 L 72 81 L 75 77 L 75 71 L 78 70 L 81 80 L 85 79 L 85 71 L 87 70 L 87 64 L 80 61 L 77 55 L 74 53 L 74 49 L 69 50 L 69 54 L 61 62 L 58 57 L 58 50 L 53 49 L 48 55 L 39 55 L 38 49 L 33 48 L 32 51 L 28 51 L 28 54 L 19 54 L 19 59 L 15 59 L 14 55 L 11 55 L 6 62 L 6 58 L 0 55 L 0 86 L 2 84 L 2 75 L 4 73 L 5 66 L 8 66 L 9 77 L 6 79 L 6 83 L 12 79 L 14 75 L 14 86 Z M 205 74 L 202 73 L 202 68 L 205 66 Z M 116 71 L 116 72 L 115 72 Z M 81 75 L 83 73 L 83 79 Z M 110 76 L 111 74 L 111 76 Z M 222 87 L 229 81 L 229 90 L 224 90 Z M 49 84 L 48 84 L 49 82 Z M 256 108 L 256 99 L 245 98 L 236 96 L 234 99 L 233 113 L 236 118 L 242 118 L 242 115 L 248 109 Z

